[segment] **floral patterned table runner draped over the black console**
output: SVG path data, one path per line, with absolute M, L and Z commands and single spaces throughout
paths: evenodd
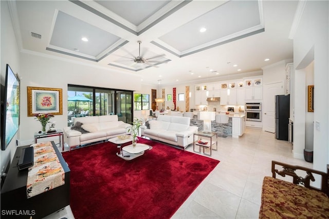
M 65 184 L 65 172 L 50 142 L 33 144 L 34 165 L 27 175 L 27 198 Z

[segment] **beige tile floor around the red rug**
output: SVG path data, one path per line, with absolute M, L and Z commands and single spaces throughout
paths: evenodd
M 218 137 L 211 157 L 220 164 L 195 189 L 172 218 L 258 218 L 264 176 L 271 176 L 271 161 L 312 168 L 312 163 L 293 158 L 293 146 L 275 134 L 246 129 L 240 138 Z M 189 146 L 187 151 L 193 151 Z M 207 152 L 207 151 L 206 151 Z M 71 209 L 46 219 L 74 218 Z

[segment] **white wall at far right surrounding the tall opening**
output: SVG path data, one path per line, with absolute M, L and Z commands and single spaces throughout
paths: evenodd
M 320 123 L 320 130 L 314 130 L 314 164 L 313 167 L 318 170 L 326 171 L 326 165 L 329 163 L 329 114 L 328 114 L 328 1 L 307 1 L 300 18 L 296 33 L 294 35 L 294 68 L 295 71 L 295 133 L 305 133 L 305 72 L 298 69 L 304 69 L 313 60 L 314 57 L 314 121 Z M 304 94 L 301 98 L 297 95 Z M 298 124 L 297 124 L 298 122 Z M 298 142 L 300 136 L 294 133 L 294 152 L 295 148 L 300 150 L 304 148 L 303 142 Z M 297 140 L 297 142 L 296 142 Z M 300 152 L 300 151 L 299 151 Z

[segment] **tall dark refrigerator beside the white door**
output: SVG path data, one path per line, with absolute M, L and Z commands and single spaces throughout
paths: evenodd
M 290 95 L 276 95 L 276 138 L 288 141 Z

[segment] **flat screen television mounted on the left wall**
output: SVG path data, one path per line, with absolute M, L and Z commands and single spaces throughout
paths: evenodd
M 6 150 L 20 125 L 20 80 L 8 64 L 1 87 L 1 150 Z

